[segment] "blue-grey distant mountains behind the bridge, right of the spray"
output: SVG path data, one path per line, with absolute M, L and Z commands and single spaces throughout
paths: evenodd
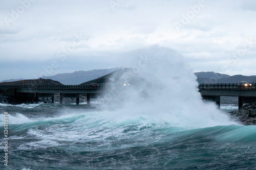
M 256 76 L 234 75 L 229 76 L 217 72 L 195 72 L 197 81 L 202 83 L 238 83 L 240 81 L 256 82 Z

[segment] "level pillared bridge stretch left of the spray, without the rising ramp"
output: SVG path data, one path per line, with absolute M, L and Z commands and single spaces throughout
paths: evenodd
M 106 89 L 106 84 L 99 85 L 1 85 L 0 89 L 7 90 L 4 95 L 15 98 L 29 98 L 38 103 L 38 98 L 50 97 L 54 103 L 54 94 L 59 93 L 59 103 L 63 98 L 76 98 L 79 105 L 79 95 L 87 95 L 87 106 L 90 107 L 90 99 L 97 98 Z

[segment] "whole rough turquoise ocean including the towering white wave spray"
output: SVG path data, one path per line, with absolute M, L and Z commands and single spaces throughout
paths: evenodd
M 136 56 L 104 104 L 0 104 L 1 169 L 256 169 L 256 127 L 227 113 L 236 98 L 204 102 L 169 48 Z

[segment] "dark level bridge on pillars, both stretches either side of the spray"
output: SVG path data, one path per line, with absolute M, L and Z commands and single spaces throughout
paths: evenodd
M 59 93 L 59 103 L 63 98 L 76 98 L 79 105 L 79 95 L 86 94 L 87 106 L 90 107 L 90 99 L 95 99 L 108 89 L 109 85 L 1 85 L 0 89 L 6 89 L 5 95 L 15 98 L 30 98 L 38 102 L 38 98 L 50 97 L 54 103 L 54 94 Z M 252 87 L 237 87 L 236 83 L 222 84 L 199 84 L 199 92 L 203 99 L 211 100 L 220 107 L 220 96 L 238 96 L 238 107 L 241 109 L 243 103 L 256 102 L 256 84 Z

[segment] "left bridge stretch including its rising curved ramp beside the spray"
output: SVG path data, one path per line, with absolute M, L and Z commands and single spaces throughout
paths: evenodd
M 129 70 L 129 68 L 119 68 L 80 85 L 0 85 L 0 89 L 7 90 L 4 95 L 16 99 L 29 99 L 36 103 L 38 103 L 38 98 L 45 97 L 50 97 L 52 103 L 54 103 L 54 94 L 59 94 L 60 104 L 63 103 L 63 98 L 76 98 L 76 104 L 79 105 L 80 94 L 85 94 L 87 96 L 87 106 L 90 107 L 90 99 L 99 98 L 101 94 L 108 90 L 115 91 L 110 83 L 115 83 L 116 87 L 119 88 L 118 85 L 122 82 L 123 74 L 129 72 Z

